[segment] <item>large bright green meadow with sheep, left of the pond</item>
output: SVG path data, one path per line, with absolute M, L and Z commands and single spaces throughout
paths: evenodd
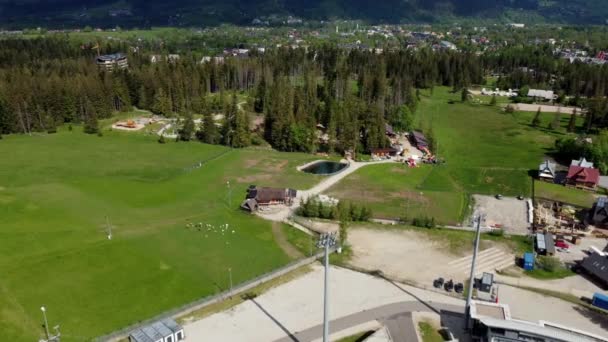
M 42 305 L 62 340 L 90 340 L 225 290 L 229 267 L 239 283 L 288 263 L 270 223 L 238 205 L 249 184 L 318 181 L 295 169 L 309 155 L 80 127 L 5 136 L 0 153 L 0 331 L 10 341 L 40 337 Z

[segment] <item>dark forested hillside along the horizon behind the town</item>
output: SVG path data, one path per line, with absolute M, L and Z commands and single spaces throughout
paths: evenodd
M 0 0 L 0 26 L 206 26 L 255 18 L 360 19 L 370 23 L 462 18 L 606 24 L 600 0 Z

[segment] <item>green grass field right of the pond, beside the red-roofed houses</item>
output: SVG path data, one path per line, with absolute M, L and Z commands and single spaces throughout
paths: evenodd
M 551 113 L 543 113 L 540 127 L 532 127 L 535 113 L 507 114 L 497 106 L 461 103 L 460 92 L 445 87 L 423 94 L 416 125 L 425 131 L 432 127 L 446 163 L 416 169 L 369 166 L 330 189 L 330 195 L 367 203 L 376 217 L 431 216 L 454 224 L 468 214 L 471 194 L 531 196 L 530 174 L 555 139 L 568 134 L 567 115 L 561 116 L 559 129 L 551 130 Z

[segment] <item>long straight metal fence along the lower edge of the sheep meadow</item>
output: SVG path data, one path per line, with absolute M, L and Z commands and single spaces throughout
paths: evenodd
M 330 248 L 330 253 L 335 252 L 336 248 Z M 289 263 L 279 269 L 276 269 L 274 271 L 265 273 L 259 277 L 256 277 L 254 279 L 248 280 L 242 284 L 239 284 L 237 286 L 235 286 L 232 290 L 227 290 L 224 292 L 221 292 L 217 295 L 213 295 L 213 296 L 209 296 L 209 297 L 204 297 L 201 298 L 197 301 L 182 305 L 180 307 L 171 309 L 169 311 L 163 312 L 159 315 L 156 315 L 152 318 L 146 319 L 144 321 L 140 321 L 138 323 L 132 324 L 128 327 L 125 327 L 123 329 L 114 331 L 110 334 L 104 335 L 104 336 L 100 336 L 94 339 L 94 341 L 118 341 L 121 339 L 126 339 L 128 338 L 129 334 L 136 329 L 142 328 L 144 326 L 150 325 L 152 323 L 155 323 L 157 321 L 163 320 L 165 318 L 173 318 L 176 319 L 180 316 L 184 316 L 187 315 L 193 311 L 202 309 L 206 306 L 221 302 L 225 299 L 228 299 L 232 296 L 241 294 L 247 290 L 250 290 L 258 285 L 261 285 L 265 282 L 268 282 L 270 280 L 273 280 L 275 278 L 278 278 L 286 273 L 289 273 L 297 268 L 300 268 L 302 266 L 306 266 L 309 264 L 312 264 L 313 262 L 315 262 L 317 259 L 321 258 L 324 255 L 324 252 L 318 252 L 317 254 L 305 258 L 305 259 L 301 259 L 301 260 L 297 260 L 294 261 L 292 263 Z

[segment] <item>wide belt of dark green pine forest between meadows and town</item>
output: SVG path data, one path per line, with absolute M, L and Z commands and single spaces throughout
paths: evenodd
M 587 124 L 608 126 L 608 67 L 563 64 L 527 50 L 482 56 L 429 49 L 376 54 L 327 44 L 307 51 L 273 49 L 223 63 L 200 63 L 194 54 L 151 63 L 151 52 L 135 53 L 117 42 L 105 43 L 103 51 L 130 51 L 129 68 L 104 72 L 95 65 L 94 51 L 69 38 L 0 41 L 0 134 L 52 132 L 64 123 L 81 123 L 88 133 L 97 133 L 97 120 L 135 106 L 186 123 L 193 114 L 202 115 L 200 131 L 186 127 L 182 140 L 243 147 L 255 139 L 238 93 L 249 99 L 248 109 L 264 117 L 260 134 L 276 149 L 318 150 L 316 129 L 322 125 L 329 137 L 324 148 L 367 152 L 387 145 L 386 124 L 413 128 L 419 89 L 443 85 L 466 94 L 496 71 L 505 75 L 498 81 L 504 86 L 542 84 L 560 72 L 556 88 L 577 98 L 597 96 L 588 101 Z M 522 74 L 523 65 L 535 66 L 534 75 Z M 224 114 L 219 127 L 212 124 L 212 113 Z

